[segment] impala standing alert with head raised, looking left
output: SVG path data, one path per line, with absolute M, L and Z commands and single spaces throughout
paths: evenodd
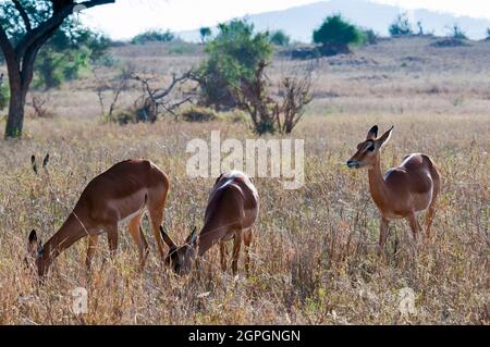
M 381 213 L 380 250 L 384 248 L 388 237 L 389 221 L 407 219 L 417 240 L 421 230 L 417 214 L 428 210 L 426 235 L 430 237 L 430 227 L 436 213 L 436 200 L 441 188 L 441 176 L 436 164 L 425 154 L 409 154 L 400 166 L 390 169 L 384 175 L 380 168 L 381 148 L 390 140 L 393 127 L 378 137 L 378 126 L 368 133 L 365 141 L 357 145 L 357 152 L 347 165 L 351 169 L 367 168 L 369 189 Z

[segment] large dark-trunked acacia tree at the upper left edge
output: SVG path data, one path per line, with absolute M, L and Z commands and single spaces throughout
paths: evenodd
M 39 49 L 75 11 L 113 2 L 115 0 L 11 0 L 11 7 L 4 5 L 0 18 L 0 48 L 9 72 L 10 87 L 5 138 L 22 136 L 26 95 Z M 19 25 L 17 17 L 22 20 L 23 32 L 13 35 Z

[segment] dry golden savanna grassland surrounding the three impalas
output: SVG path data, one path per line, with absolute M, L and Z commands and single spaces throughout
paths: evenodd
M 236 278 L 221 272 L 218 247 L 192 275 L 174 276 L 159 261 L 144 219 L 150 244 L 144 273 L 122 228 L 117 257 L 109 259 L 103 238 L 90 276 L 81 241 L 39 286 L 23 262 L 27 235 L 36 228 L 46 241 L 95 175 L 133 157 L 158 164 L 171 177 L 164 223 L 183 241 L 193 225 L 203 225 L 216 179 L 187 177 L 188 140 L 208 140 L 212 129 L 222 138 L 254 137 L 247 124 L 225 117 L 103 123 L 89 74 L 45 95 L 54 116 L 28 117 L 22 140 L 0 142 L 0 324 L 488 324 L 490 42 L 436 48 L 433 40 L 383 40 L 313 62 L 274 59 L 272 84 L 313 70 L 315 99 L 293 133 L 305 139 L 306 178 L 297 190 L 255 178 L 261 211 L 248 278 L 243 270 Z M 199 49 L 175 53 L 164 46 L 122 47 L 114 54 L 162 80 L 203 58 Z M 138 92 L 136 86 L 124 90 L 121 104 Z M 383 169 L 424 152 L 443 177 L 433 237 L 420 243 L 417 256 L 407 223 L 399 221 L 384 259 L 377 257 L 378 211 L 367 172 L 345 165 L 373 124 L 395 126 Z M 35 175 L 30 156 L 47 152 L 48 172 Z M 72 312 L 78 286 L 89 297 L 83 315 Z M 405 287 L 416 295 L 414 314 L 399 309 Z

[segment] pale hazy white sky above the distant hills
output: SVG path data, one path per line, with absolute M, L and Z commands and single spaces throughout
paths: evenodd
M 173 32 L 213 26 L 246 14 L 284 10 L 319 0 L 117 0 L 115 4 L 90 9 L 82 20 L 113 38 L 130 38 L 149 28 Z M 490 18 L 490 0 L 371 0 L 425 8 L 460 15 Z

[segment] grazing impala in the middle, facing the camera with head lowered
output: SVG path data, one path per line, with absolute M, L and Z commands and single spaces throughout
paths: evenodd
M 252 181 L 242 172 L 233 171 L 221 175 L 209 196 L 205 213 L 205 225 L 199 234 L 196 228 L 177 247 L 161 230 L 163 240 L 170 247 L 167 263 L 177 274 L 191 271 L 196 256 L 203 256 L 215 244 L 220 243 L 221 269 L 226 271 L 226 240 L 233 238 L 233 274 L 236 274 L 242 239 L 245 244 L 245 270 L 249 268 L 252 226 L 257 220 L 259 197 Z

